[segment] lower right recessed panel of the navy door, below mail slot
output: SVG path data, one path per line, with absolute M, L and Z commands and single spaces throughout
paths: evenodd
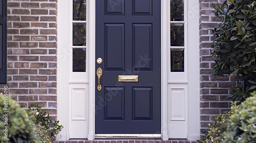
M 133 88 L 133 120 L 152 120 L 152 88 Z

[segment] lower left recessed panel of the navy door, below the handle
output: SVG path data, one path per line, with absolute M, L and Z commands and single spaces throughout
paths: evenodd
M 124 88 L 105 87 L 104 120 L 124 120 Z

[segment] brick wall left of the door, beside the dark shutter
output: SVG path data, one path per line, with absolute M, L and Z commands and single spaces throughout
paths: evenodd
M 56 115 L 56 0 L 8 0 L 8 86 L 25 107 Z M 1 89 L 2 88 L 2 89 Z

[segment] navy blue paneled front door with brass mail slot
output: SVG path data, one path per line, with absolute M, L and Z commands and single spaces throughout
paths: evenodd
M 98 58 L 95 134 L 161 134 L 161 1 L 96 0 Z

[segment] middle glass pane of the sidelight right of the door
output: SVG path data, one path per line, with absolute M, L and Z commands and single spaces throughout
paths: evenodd
M 170 24 L 170 46 L 184 46 L 184 23 Z

